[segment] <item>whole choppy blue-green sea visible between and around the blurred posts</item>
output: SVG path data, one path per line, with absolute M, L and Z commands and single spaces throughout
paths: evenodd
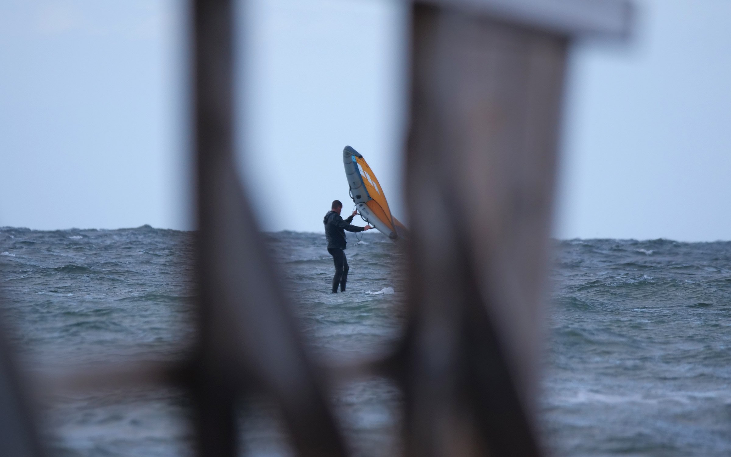
M 379 234 L 346 251 L 349 290 L 328 292 L 324 235 L 266 235 L 315 355 L 386 350 L 403 323 L 401 252 Z M 351 237 L 355 241 L 355 236 Z M 192 235 L 0 229 L 3 321 L 31 372 L 176 360 L 194 340 Z M 731 243 L 556 243 L 542 435 L 557 456 L 731 455 Z M 335 386 L 355 454 L 398 448 L 387 379 Z M 56 456 L 186 456 L 187 401 L 172 389 L 56 393 L 40 412 Z M 266 399 L 248 399 L 249 455 L 288 455 Z

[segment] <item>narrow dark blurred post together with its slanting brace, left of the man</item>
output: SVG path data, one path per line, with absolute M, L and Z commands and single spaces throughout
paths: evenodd
M 194 1 L 200 455 L 235 455 L 235 401 L 247 385 L 279 403 L 300 455 L 344 456 L 236 173 L 231 9 L 231 0 Z

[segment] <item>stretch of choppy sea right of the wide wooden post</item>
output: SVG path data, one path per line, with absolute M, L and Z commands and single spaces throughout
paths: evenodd
M 543 399 L 553 447 L 731 455 L 731 243 L 557 247 Z

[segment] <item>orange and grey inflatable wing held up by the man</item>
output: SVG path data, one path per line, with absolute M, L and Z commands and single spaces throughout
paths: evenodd
M 363 156 L 350 146 L 345 146 L 343 164 L 350 186 L 350 197 L 363 219 L 392 240 L 406 238 L 409 231 L 391 215 L 383 189 Z

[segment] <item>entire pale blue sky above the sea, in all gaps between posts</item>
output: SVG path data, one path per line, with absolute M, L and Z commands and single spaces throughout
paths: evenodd
M 569 58 L 555 234 L 731 240 L 731 2 L 637 3 L 632 42 Z M 183 4 L 0 3 L 0 225 L 191 227 Z M 238 159 L 266 230 L 320 231 L 349 201 L 346 144 L 402 214 L 407 20 L 385 0 L 240 8 Z

